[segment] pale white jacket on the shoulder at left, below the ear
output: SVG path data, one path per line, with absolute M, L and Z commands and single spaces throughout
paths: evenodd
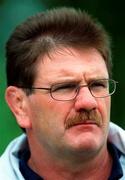
M 27 138 L 24 134 L 10 142 L 0 157 L 0 179 L 24 180 L 19 171 L 19 153 L 25 148 Z

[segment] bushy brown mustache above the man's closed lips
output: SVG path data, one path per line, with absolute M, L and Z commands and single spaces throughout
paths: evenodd
M 90 121 L 94 124 L 97 124 L 97 126 L 101 126 L 102 124 L 102 118 L 100 113 L 98 113 L 96 110 L 92 111 L 85 111 L 83 110 L 80 113 L 77 113 L 74 117 L 68 118 L 65 122 L 65 129 L 69 129 L 72 126 L 85 123 L 87 121 Z

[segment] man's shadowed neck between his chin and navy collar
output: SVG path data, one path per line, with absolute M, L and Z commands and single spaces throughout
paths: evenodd
M 91 157 L 82 156 L 78 158 L 76 155 L 77 159 L 75 160 L 50 156 L 44 149 L 39 152 L 37 149 L 34 150 L 34 147 L 30 148 L 31 157 L 28 164 L 45 180 L 107 180 L 111 172 L 112 159 L 106 146 L 98 154 Z

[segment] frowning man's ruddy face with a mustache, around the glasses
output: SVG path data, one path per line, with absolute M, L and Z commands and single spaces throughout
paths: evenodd
M 65 82 L 88 84 L 106 78 L 107 68 L 98 51 L 64 49 L 40 61 L 34 87 L 49 88 Z M 97 152 L 106 144 L 110 97 L 95 98 L 87 87 L 82 87 L 71 101 L 54 100 L 46 90 L 35 90 L 28 98 L 30 132 L 47 151 Z

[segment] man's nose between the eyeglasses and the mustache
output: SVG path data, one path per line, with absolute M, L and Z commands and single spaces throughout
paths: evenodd
M 97 100 L 92 96 L 88 87 L 82 87 L 75 99 L 76 111 L 86 110 L 91 111 L 97 108 Z

